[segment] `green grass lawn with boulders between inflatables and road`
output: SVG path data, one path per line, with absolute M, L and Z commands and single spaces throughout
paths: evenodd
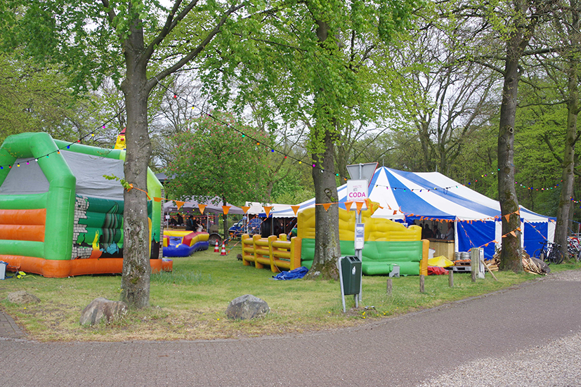
M 198 251 L 185 258 L 174 258 L 173 273 L 152 275 L 150 308 L 132 310 L 121 322 L 98 327 L 81 327 L 81 310 L 97 297 L 119 299 L 119 275 L 85 275 L 44 278 L 27 275 L 0 281 L 0 308 L 11 315 L 39 341 L 122 341 L 226 339 L 313 332 L 321 329 L 352 327 L 413 310 L 487 294 L 528 280 L 537 275 L 496 272 L 471 282 L 469 273 L 455 273 L 454 287 L 448 276 L 425 278 L 424 293 L 419 277 L 393 278 L 391 296 L 386 294 L 384 276 L 363 277 L 363 302 L 355 309 L 353 296 L 346 296 L 343 313 L 339 281 L 275 281 L 267 269 L 244 266 L 237 261 L 240 247 L 227 256 L 213 249 Z M 578 268 L 559 265 L 553 270 Z M 11 273 L 8 273 L 11 275 Z M 26 306 L 9 303 L 11 291 L 26 290 L 41 303 Z M 237 296 L 253 294 L 270 306 L 270 314 L 259 320 L 233 321 L 225 315 L 228 303 Z

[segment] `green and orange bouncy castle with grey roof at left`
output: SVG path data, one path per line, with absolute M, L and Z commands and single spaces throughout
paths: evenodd
M 53 140 L 47 133 L 9 136 L 0 147 L 0 261 L 45 277 L 122 273 L 124 190 L 103 175 L 124 176 L 125 152 Z M 148 170 L 148 194 L 162 185 Z M 148 201 L 152 270 L 162 260 L 161 202 Z

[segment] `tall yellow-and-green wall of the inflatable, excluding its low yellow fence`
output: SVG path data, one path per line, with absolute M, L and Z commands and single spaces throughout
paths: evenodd
M 362 271 L 365 275 L 388 275 L 392 264 L 400 266 L 402 275 L 428 275 L 429 241 L 421 240 L 422 228 L 383 218 L 372 218 L 379 204 L 361 212 L 365 223 Z M 298 233 L 301 238 L 301 265 L 311 268 L 315 256 L 315 208 L 299 211 Z M 355 255 L 355 211 L 339 209 L 341 256 Z

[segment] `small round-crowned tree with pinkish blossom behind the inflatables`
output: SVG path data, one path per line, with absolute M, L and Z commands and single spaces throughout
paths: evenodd
M 171 197 L 218 204 L 243 204 L 260 201 L 266 190 L 265 161 L 270 156 L 259 145 L 268 140 L 265 133 L 235 122 L 231 114 L 214 112 L 193 119 L 190 130 L 177 133 L 173 139 L 166 174 L 171 176 Z M 228 235 L 224 216 L 224 235 Z

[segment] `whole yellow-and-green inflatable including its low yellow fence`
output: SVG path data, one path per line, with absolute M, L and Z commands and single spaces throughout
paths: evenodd
M 406 228 L 384 218 L 372 218 L 379 204 L 361 212 L 365 223 L 365 244 L 362 271 L 365 275 L 388 275 L 393 265 L 399 265 L 402 275 L 428 275 L 429 241 L 421 240 L 422 228 Z M 281 269 L 311 268 L 315 256 L 315 208 L 297 214 L 298 234 L 290 241 L 287 235 L 242 235 L 242 263 L 256 268 L 269 267 L 273 273 Z M 355 255 L 355 211 L 339 209 L 339 239 L 341 255 Z

